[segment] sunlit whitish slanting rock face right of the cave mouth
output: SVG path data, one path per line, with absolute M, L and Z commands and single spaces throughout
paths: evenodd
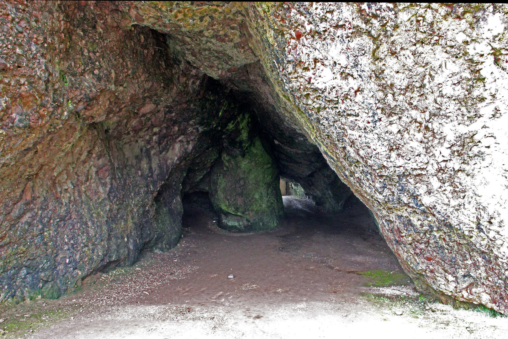
M 508 311 L 506 8 L 259 6 L 251 47 L 405 269 Z

